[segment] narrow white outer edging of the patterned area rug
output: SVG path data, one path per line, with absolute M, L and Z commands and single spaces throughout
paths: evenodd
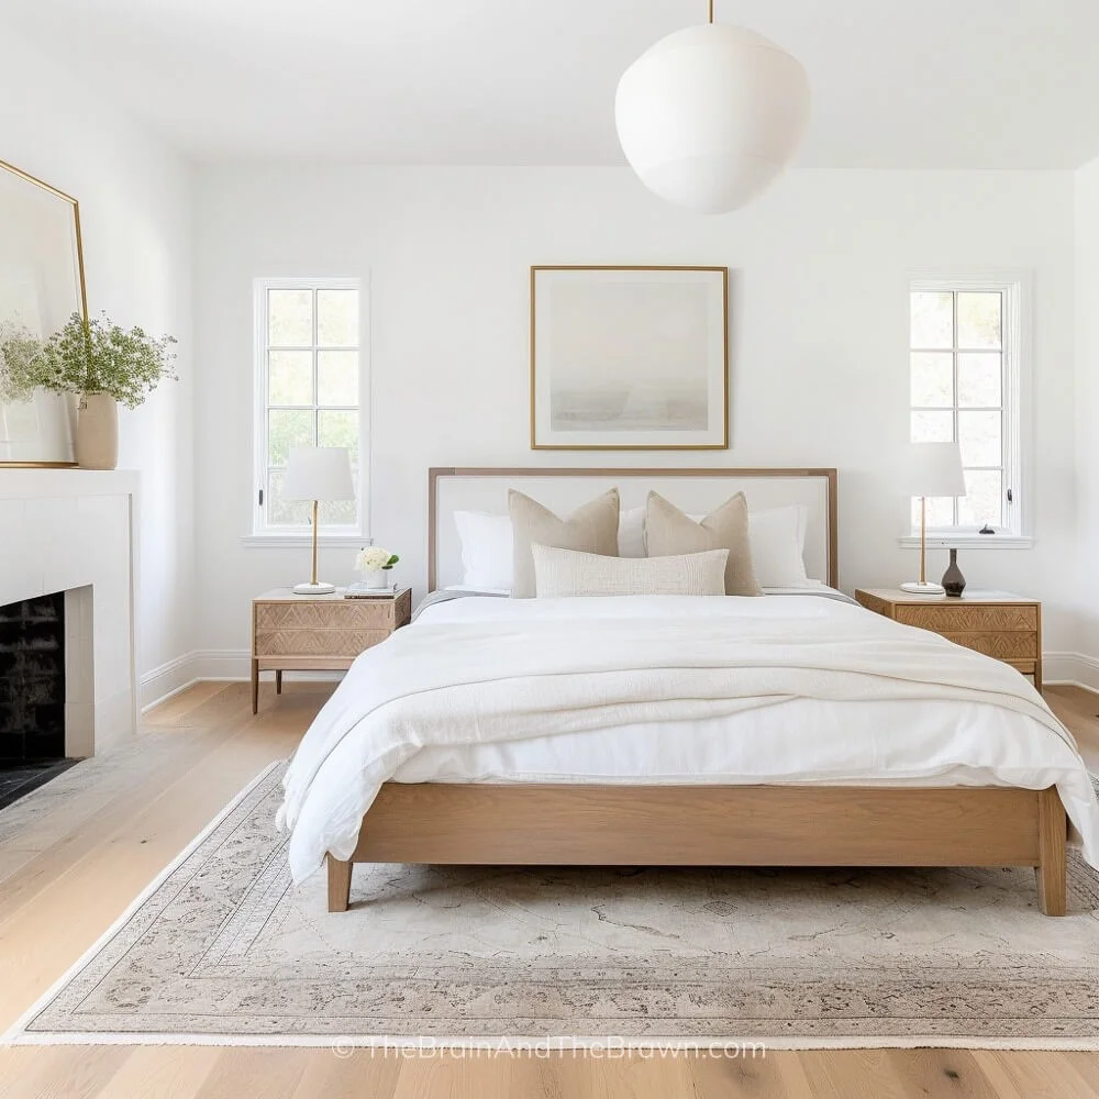
M 126 1045 L 126 1046 L 241 1046 L 255 1048 L 330 1048 L 344 1056 L 344 1051 L 351 1050 L 393 1050 L 393 1051 L 493 1051 L 514 1053 L 518 1055 L 553 1055 L 560 1051 L 568 1055 L 574 1051 L 720 1051 L 736 1047 L 739 1050 L 763 1048 L 774 1051 L 786 1050 L 1019 1050 L 1019 1051 L 1065 1051 L 1065 1052 L 1099 1052 L 1099 1036 L 1091 1039 L 1024 1039 L 1024 1037 L 981 1037 L 976 1035 L 853 1035 L 839 1037 L 771 1035 L 761 1036 L 713 1036 L 713 1037 L 618 1037 L 609 1035 L 570 1035 L 568 1037 L 547 1037 L 546 1035 L 499 1034 L 487 1037 L 393 1037 L 373 1034 L 179 1034 L 159 1033 L 154 1031 L 133 1033 L 111 1032 L 52 1032 L 27 1031 L 27 1026 L 41 1014 L 75 979 L 96 956 L 122 932 L 142 907 L 156 893 L 164 882 L 209 839 L 209 836 L 230 817 L 256 788 L 276 769 L 285 766 L 286 761 L 268 764 L 253 778 L 210 822 L 195 836 L 190 843 L 156 875 L 153 880 L 134 898 L 125 911 L 104 931 L 69 968 L 51 985 L 37 1000 L 19 1017 L 19 1019 L 0 1035 L 0 1046 L 52 1046 L 52 1045 Z M 1097 789 L 1099 778 L 1094 777 Z M 33 796 L 29 795 L 29 797 Z M 747 1055 L 747 1054 L 745 1054 Z

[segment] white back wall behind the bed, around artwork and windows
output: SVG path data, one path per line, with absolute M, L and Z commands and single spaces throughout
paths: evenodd
M 707 463 L 840 468 L 841 582 L 917 568 L 890 468 L 908 439 L 911 268 L 1034 273 L 1033 550 L 963 551 L 974 587 L 1045 600 L 1045 647 L 1076 644 L 1070 173 L 795 171 L 745 211 L 681 213 L 615 168 L 210 168 L 197 181 L 198 544 L 202 645 L 240 653 L 248 600 L 301 551 L 241 544 L 251 517 L 252 287 L 369 276 L 373 532 L 422 595 L 430 465 L 698 464 L 699 454 L 529 448 L 536 263 L 733 270 L 732 445 Z M 324 554 L 351 578 L 346 551 Z M 945 567 L 933 551 L 930 571 Z M 1097 650 L 1099 651 L 1099 650 Z M 238 659 L 206 670 L 241 673 Z

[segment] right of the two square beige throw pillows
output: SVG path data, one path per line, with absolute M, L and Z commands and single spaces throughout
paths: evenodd
M 701 550 L 728 550 L 725 595 L 762 596 L 752 566 L 748 541 L 748 502 L 737 492 L 700 523 L 668 503 L 657 492 L 648 493 L 645 511 L 645 550 L 650 557 L 670 557 Z

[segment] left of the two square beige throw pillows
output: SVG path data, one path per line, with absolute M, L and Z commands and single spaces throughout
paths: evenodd
M 617 488 L 578 508 L 568 519 L 558 519 L 537 500 L 511 489 L 508 492 L 508 511 L 511 514 L 512 553 L 515 566 L 511 580 L 513 599 L 534 598 L 532 545 L 580 550 L 584 553 L 598 553 L 606 557 L 618 556 Z

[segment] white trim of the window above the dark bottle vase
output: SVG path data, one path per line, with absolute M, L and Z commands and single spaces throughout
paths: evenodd
M 1034 545 L 1032 492 L 1033 420 L 1032 360 L 1034 278 L 1028 270 L 920 270 L 909 274 L 913 290 L 997 290 L 1004 296 L 1003 328 L 1003 408 L 1011 414 L 1003 424 L 1004 489 L 1012 489 L 1012 501 L 1004 500 L 1008 523 L 995 534 L 978 534 L 972 528 L 929 528 L 929 546 L 981 550 L 1029 550 Z M 911 337 L 906 340 L 911 351 Z M 910 356 L 909 356 L 910 358 Z M 910 406 L 911 407 L 911 406 Z M 909 512 L 906 509 L 906 525 Z M 919 548 L 920 535 L 910 533 L 897 540 L 904 548 Z

